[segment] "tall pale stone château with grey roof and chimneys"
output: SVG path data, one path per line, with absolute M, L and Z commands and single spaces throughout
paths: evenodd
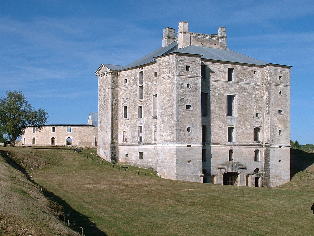
M 101 64 L 98 154 L 163 178 L 275 187 L 290 181 L 290 66 L 227 48 L 187 22 L 125 66 Z

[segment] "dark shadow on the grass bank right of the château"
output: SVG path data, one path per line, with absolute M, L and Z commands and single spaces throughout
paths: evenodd
M 300 171 L 304 171 L 313 163 L 314 163 L 314 153 L 308 153 L 300 149 L 291 148 L 290 149 L 290 179 L 292 179 L 292 177 L 296 173 Z

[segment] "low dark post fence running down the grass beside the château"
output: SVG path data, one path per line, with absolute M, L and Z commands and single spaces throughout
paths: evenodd
M 80 148 L 80 149 L 74 149 L 75 151 L 77 151 L 78 155 L 82 154 L 82 157 L 86 157 L 86 159 L 89 159 L 89 160 L 96 160 L 96 163 L 101 163 L 102 165 L 106 165 L 106 166 L 112 166 L 112 168 L 116 168 L 118 170 L 121 170 L 121 171 L 126 171 L 126 172 L 131 172 L 131 173 L 134 173 L 134 174 L 138 174 L 138 175 L 144 175 L 144 176 L 151 176 L 151 177 L 159 177 L 161 178 L 161 175 L 157 175 L 157 174 L 154 174 L 154 173 L 148 173 L 148 172 L 143 172 L 143 171 L 136 171 L 136 170 L 129 170 L 128 169 L 128 166 L 120 166 L 120 165 L 117 165 L 117 164 L 113 164 L 113 163 L 110 163 L 106 160 L 103 160 L 103 159 L 99 159 L 99 158 L 96 158 L 96 157 L 93 157 L 91 155 L 88 155 L 88 154 L 84 154 L 81 150 L 83 150 L 83 148 Z M 85 148 L 85 150 L 89 150 L 88 148 Z

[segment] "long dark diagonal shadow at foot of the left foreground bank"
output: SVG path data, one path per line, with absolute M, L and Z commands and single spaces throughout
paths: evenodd
M 31 183 L 35 184 L 39 189 L 42 189 L 42 193 L 44 196 L 48 199 L 51 199 L 54 202 L 59 203 L 64 207 L 63 213 L 65 215 L 64 222 L 67 224 L 68 221 L 70 224 L 72 224 L 73 228 L 73 221 L 75 221 L 75 228 L 74 230 L 78 233 L 81 233 L 81 229 L 78 227 L 82 227 L 84 230 L 84 235 L 96 235 L 96 236 L 106 236 L 107 234 L 100 229 L 98 229 L 95 226 L 95 223 L 91 222 L 87 216 L 82 215 L 78 211 L 74 210 L 66 201 L 64 201 L 59 196 L 53 194 L 52 192 L 48 191 L 45 188 L 41 188 L 40 185 L 38 185 L 34 180 L 30 178 L 30 176 L 27 174 L 26 170 L 20 166 L 18 163 L 16 163 L 14 160 L 10 158 L 9 155 L 3 150 L 0 150 L 0 155 L 3 157 L 3 159 L 12 167 L 17 169 L 18 171 L 21 171 L 26 179 L 30 181 Z M 60 217 L 59 217 L 60 218 Z

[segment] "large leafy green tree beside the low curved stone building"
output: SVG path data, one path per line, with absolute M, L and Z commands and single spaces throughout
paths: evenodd
M 8 91 L 0 99 L 0 131 L 8 135 L 12 146 L 24 133 L 25 127 L 35 126 L 36 130 L 40 130 L 47 118 L 45 110 L 31 107 L 21 90 Z

